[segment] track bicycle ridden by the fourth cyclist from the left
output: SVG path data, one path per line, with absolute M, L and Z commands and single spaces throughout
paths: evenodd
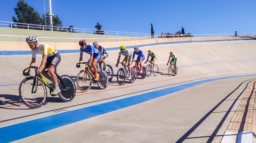
M 128 79 L 128 70 L 125 67 L 125 64 L 122 62 L 122 68 L 117 70 L 116 78 L 119 85 L 123 85 L 125 83 L 125 79 Z M 128 79 L 130 83 L 135 81 L 135 71 L 131 68 L 131 79 Z

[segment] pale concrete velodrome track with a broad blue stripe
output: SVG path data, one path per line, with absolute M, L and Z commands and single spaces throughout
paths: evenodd
M 2 55 L 0 138 L 3 142 L 220 142 L 239 105 L 235 99 L 241 99 L 248 83 L 256 79 L 255 45 L 255 40 L 240 40 L 140 47 L 158 55 L 158 76 L 122 86 L 114 77 L 105 90 L 97 85 L 87 93 L 77 89 L 75 99 L 66 103 L 48 94 L 39 109 L 28 109 L 18 94 L 31 55 Z M 177 55 L 179 67 L 172 77 L 166 65 L 170 51 Z M 118 52 L 109 51 L 107 59 L 114 74 Z M 81 70 L 75 68 L 78 61 L 79 53 L 61 54 L 58 74 L 75 78 Z M 36 65 L 40 62 L 37 55 Z

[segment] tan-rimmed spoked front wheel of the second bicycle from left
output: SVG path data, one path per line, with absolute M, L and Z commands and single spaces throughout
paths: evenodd
M 76 84 L 80 91 L 87 92 L 91 88 L 91 76 L 86 70 L 81 70 L 76 76 Z

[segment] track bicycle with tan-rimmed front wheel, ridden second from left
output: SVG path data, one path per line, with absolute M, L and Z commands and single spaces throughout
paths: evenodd
M 100 89 L 105 89 L 109 84 L 108 75 L 105 70 L 100 69 L 98 72 L 99 80 L 94 80 L 95 76 L 91 72 L 88 66 L 89 62 L 77 63 L 76 66 L 80 64 L 85 64 L 85 69 L 80 70 L 76 76 L 76 84 L 80 91 L 87 92 L 91 88 L 91 83 L 94 85 L 98 84 Z

